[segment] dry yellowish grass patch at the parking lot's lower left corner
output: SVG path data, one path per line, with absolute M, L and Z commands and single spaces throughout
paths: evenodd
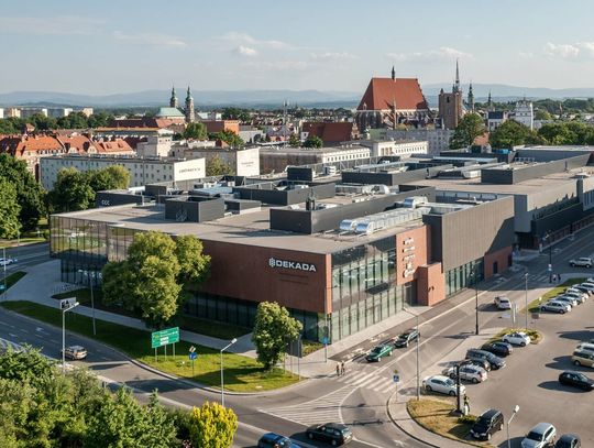
M 406 408 L 415 422 L 431 433 L 475 447 L 491 447 L 492 445 L 487 442 L 466 439 L 472 424 L 459 423 L 459 417 L 452 415 L 452 411 L 455 409 L 454 400 L 410 400 Z

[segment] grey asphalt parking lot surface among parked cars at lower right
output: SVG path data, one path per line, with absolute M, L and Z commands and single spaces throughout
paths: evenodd
M 495 307 L 493 313 L 506 315 Z M 522 325 L 524 315 L 518 317 L 518 325 Z M 440 374 L 450 362 L 463 359 L 469 348 L 480 348 L 490 337 L 510 325 L 506 319 L 493 319 L 491 323 L 492 327 L 483 328 L 480 336 L 466 338 L 429 373 Z M 594 392 L 562 386 L 558 381 L 564 370 L 575 370 L 594 378 L 594 369 L 575 367 L 571 362 L 575 346 L 594 338 L 594 295 L 569 314 L 542 313 L 538 319 L 530 318 L 529 327 L 535 326 L 543 336 L 540 343 L 514 347 L 513 354 L 504 358 L 507 365 L 503 370 L 490 372 L 484 383 L 465 383 L 471 413 L 479 415 L 487 408 L 497 408 L 507 422 L 514 406 L 519 405 L 509 427 L 512 446 L 519 447 L 524 435 L 539 422 L 553 424 L 558 435 L 574 433 L 582 437 L 583 446 L 594 446 Z M 496 433 L 492 442 L 507 446 L 505 429 Z

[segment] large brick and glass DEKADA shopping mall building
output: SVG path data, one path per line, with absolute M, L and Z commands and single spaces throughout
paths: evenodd
M 407 304 L 444 301 L 512 263 L 513 197 L 329 181 L 289 173 L 243 186 L 101 193 L 108 207 L 52 216 L 51 252 L 64 281 L 100 283 L 102 266 L 123 260 L 136 232 L 194 234 L 211 276 L 186 314 L 249 327 L 260 302 L 277 302 L 306 338 L 322 340 L 328 326 L 330 341 Z

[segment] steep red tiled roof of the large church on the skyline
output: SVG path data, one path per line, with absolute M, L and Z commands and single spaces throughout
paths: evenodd
M 428 110 L 417 78 L 372 78 L 358 110 Z

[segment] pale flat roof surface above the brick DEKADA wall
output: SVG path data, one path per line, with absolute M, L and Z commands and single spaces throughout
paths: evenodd
M 343 200 L 346 199 L 334 197 L 323 203 L 340 204 Z M 304 234 L 270 229 L 271 208 L 262 206 L 260 211 L 226 216 L 207 222 L 177 222 L 165 219 L 165 206 L 163 205 L 124 205 L 53 216 L 108 222 L 128 229 L 144 231 L 154 230 L 169 234 L 195 234 L 205 241 L 220 241 L 319 254 L 338 252 L 394 236 L 406 229 L 424 226 L 422 220 L 417 219 L 370 236 L 341 234 L 338 231 Z

